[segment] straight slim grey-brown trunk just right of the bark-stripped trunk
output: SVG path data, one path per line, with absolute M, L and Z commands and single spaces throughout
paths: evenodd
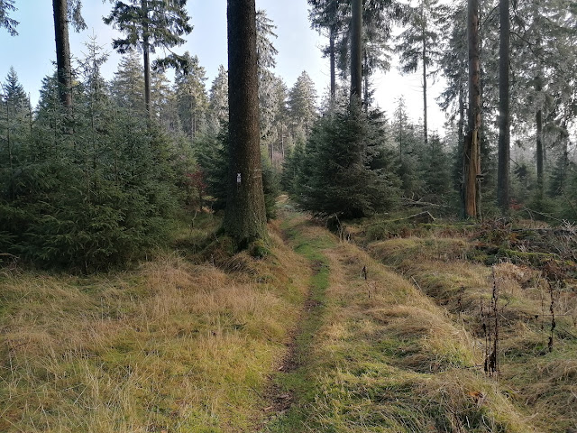
M 510 166 L 508 52 L 510 40 L 509 0 L 499 0 L 499 166 L 497 172 L 497 203 L 508 212 L 508 178 Z

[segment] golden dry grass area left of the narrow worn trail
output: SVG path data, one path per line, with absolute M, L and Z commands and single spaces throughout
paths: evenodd
M 243 259 L 254 272 L 164 254 L 87 279 L 4 276 L 0 431 L 250 430 L 307 289 L 272 236 L 270 259 Z

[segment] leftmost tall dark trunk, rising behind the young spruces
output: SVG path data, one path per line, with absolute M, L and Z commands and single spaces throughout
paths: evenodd
M 72 106 L 72 67 L 70 65 L 69 17 L 67 0 L 52 0 L 54 34 L 56 41 L 56 67 L 60 102 Z

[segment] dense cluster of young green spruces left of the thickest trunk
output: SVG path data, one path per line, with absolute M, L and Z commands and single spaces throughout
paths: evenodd
M 0 253 L 42 267 L 105 269 L 165 243 L 184 198 L 179 186 L 193 165 L 178 137 L 114 104 L 99 73 L 105 56 L 94 44 L 88 49 L 72 123 L 54 78 L 44 80 L 32 124 L 18 110 L 7 112 L 12 134 L 10 157 L 0 159 Z

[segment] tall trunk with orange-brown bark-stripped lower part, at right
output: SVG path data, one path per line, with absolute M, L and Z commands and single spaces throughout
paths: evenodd
M 467 39 L 469 42 L 469 131 L 463 149 L 464 215 L 480 217 L 478 201 L 481 176 L 481 63 L 479 60 L 479 0 L 469 0 Z

